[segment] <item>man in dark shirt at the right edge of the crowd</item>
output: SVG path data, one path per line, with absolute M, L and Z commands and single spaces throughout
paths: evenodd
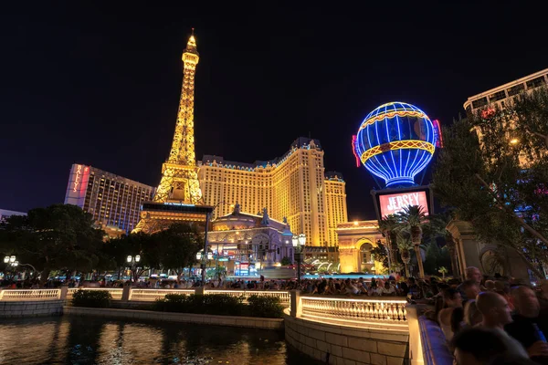
M 506 331 L 518 339 L 527 349 L 531 359 L 548 364 L 548 343 L 546 343 L 546 321 L 541 318 L 539 299 L 529 287 L 515 287 L 511 291 L 515 313 L 513 321 L 505 326 Z

